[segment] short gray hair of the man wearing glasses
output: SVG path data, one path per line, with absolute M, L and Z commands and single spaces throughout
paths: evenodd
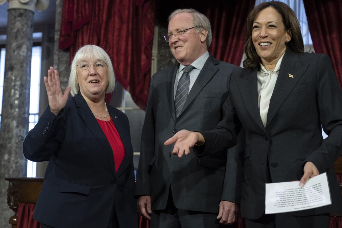
M 201 29 L 206 29 L 208 31 L 208 35 L 207 35 L 207 48 L 209 48 L 210 44 L 211 44 L 211 40 L 212 40 L 212 34 L 211 34 L 211 25 L 210 25 L 210 21 L 208 19 L 208 17 L 206 17 L 204 14 L 198 12 L 195 9 L 178 9 L 173 11 L 169 18 L 168 18 L 168 22 L 170 22 L 171 18 L 174 17 L 176 14 L 179 13 L 190 13 L 193 16 L 193 23 L 194 26 L 198 26 L 196 28 L 196 32 L 198 33 Z

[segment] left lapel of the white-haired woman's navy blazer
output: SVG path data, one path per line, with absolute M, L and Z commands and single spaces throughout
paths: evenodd
M 98 142 L 101 144 L 103 151 L 106 154 L 110 169 L 113 172 L 114 176 L 116 176 L 113 150 L 111 149 L 110 144 L 101 129 L 101 126 L 97 123 L 97 120 L 92 114 L 86 100 L 84 100 L 80 93 L 75 95 L 75 101 L 78 114 L 83 119 L 84 123 L 88 126 L 90 131 L 94 134 Z

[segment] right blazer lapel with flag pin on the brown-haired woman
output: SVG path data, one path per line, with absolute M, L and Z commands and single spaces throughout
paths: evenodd
M 303 66 L 296 53 L 292 52 L 290 49 L 286 50 L 280 65 L 279 75 L 273 94 L 269 101 L 266 128 L 272 122 L 277 111 L 289 96 L 294 86 L 301 79 L 307 67 L 308 65 Z M 289 74 L 293 77 L 289 77 Z

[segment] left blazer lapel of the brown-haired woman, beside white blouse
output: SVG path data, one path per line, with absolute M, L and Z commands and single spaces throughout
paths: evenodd
M 237 84 L 250 117 L 265 131 L 258 106 L 258 68 L 244 70 Z

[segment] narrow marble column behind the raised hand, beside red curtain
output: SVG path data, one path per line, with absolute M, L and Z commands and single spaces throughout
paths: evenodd
M 68 86 L 70 52 L 69 49 L 61 50 L 58 48 L 62 21 L 63 0 L 56 0 L 56 20 L 55 20 L 55 46 L 53 55 L 53 67 L 58 70 L 61 81 L 61 89 L 64 92 Z

